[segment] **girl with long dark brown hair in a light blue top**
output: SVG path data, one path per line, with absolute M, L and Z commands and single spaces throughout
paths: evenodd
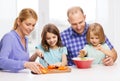
M 41 54 L 41 57 L 44 57 L 44 60 L 50 65 L 67 65 L 67 49 L 62 46 L 58 28 L 54 24 L 47 24 L 44 26 L 41 36 L 41 45 L 36 47 L 37 53 Z M 40 58 L 39 62 L 46 67 L 44 60 Z

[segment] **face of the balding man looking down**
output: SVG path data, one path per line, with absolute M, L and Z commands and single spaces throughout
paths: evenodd
M 74 14 L 69 15 L 68 19 L 69 23 L 71 24 L 73 30 L 78 34 L 82 34 L 85 28 L 85 15 L 82 14 L 80 11 L 77 11 Z

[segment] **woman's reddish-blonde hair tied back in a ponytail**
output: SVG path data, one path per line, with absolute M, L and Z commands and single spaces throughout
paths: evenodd
M 33 9 L 31 9 L 31 8 L 22 9 L 21 12 L 19 13 L 19 16 L 16 18 L 16 20 L 14 22 L 13 30 L 16 30 L 18 27 L 17 19 L 19 19 L 21 22 L 23 22 L 24 20 L 26 20 L 28 18 L 34 18 L 36 21 L 38 20 L 38 16 Z

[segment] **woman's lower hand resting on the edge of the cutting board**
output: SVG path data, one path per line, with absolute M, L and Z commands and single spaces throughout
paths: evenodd
M 40 67 L 44 68 L 41 64 L 36 62 L 25 62 L 24 67 L 37 74 L 41 73 Z

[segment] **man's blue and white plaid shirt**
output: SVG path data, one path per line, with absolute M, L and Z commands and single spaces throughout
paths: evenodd
M 88 24 L 85 25 L 84 32 L 80 35 L 77 34 L 72 27 L 69 27 L 67 30 L 61 32 L 61 39 L 64 46 L 67 47 L 68 50 L 68 65 L 74 65 L 72 58 L 77 57 L 78 53 L 83 47 L 87 44 L 86 41 L 86 33 L 88 30 Z M 106 44 L 110 49 L 113 48 L 112 44 L 109 42 L 108 38 L 106 38 Z

